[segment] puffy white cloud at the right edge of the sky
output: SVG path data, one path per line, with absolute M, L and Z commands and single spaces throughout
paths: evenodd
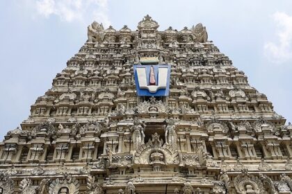
M 273 19 L 277 22 L 277 43 L 267 42 L 264 50 L 271 62 L 281 64 L 292 60 L 292 16 L 275 12 Z

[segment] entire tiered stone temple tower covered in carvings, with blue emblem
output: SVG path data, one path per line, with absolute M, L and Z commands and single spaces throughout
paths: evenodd
M 202 24 L 158 28 L 88 26 L 0 143 L 0 194 L 291 193 L 292 125 Z

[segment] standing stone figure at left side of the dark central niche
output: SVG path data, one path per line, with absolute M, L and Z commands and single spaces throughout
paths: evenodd
M 134 150 L 137 150 L 140 145 L 144 144 L 144 127 L 145 126 L 143 126 L 143 123 L 138 118 L 134 119 L 133 126 L 131 127 Z

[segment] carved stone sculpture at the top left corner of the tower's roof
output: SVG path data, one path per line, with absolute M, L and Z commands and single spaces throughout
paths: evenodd
M 93 21 L 88 29 L 88 42 L 102 42 L 104 39 L 104 26 L 98 24 L 97 21 Z

